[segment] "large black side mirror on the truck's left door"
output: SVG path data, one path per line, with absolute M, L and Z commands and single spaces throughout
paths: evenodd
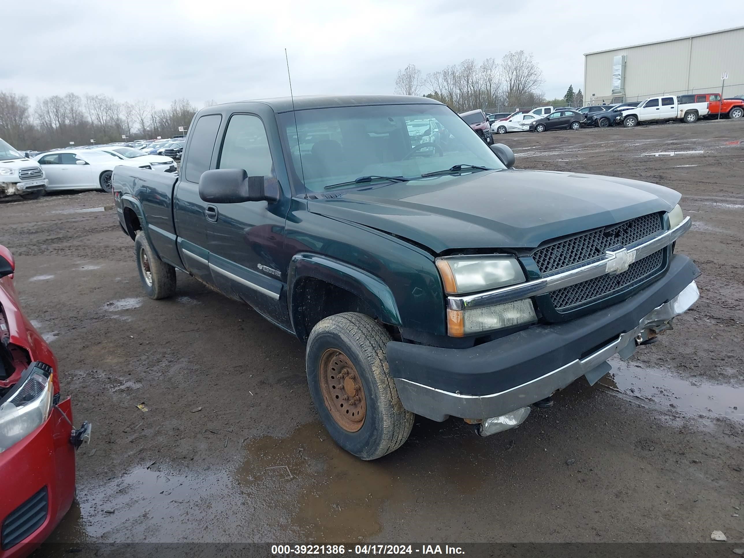
M 213 169 L 202 173 L 199 197 L 208 203 L 271 203 L 279 193 L 267 193 L 263 176 L 248 176 L 244 169 Z

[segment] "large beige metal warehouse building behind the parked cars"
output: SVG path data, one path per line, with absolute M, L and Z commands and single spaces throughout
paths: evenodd
M 584 54 L 584 101 L 644 100 L 661 94 L 744 94 L 744 27 Z

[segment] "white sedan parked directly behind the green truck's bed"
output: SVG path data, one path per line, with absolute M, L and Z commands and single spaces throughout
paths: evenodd
M 137 159 L 121 159 L 97 150 L 60 150 L 40 153 L 34 157 L 44 169 L 51 190 L 103 190 L 111 191 L 114 167 L 152 168 Z

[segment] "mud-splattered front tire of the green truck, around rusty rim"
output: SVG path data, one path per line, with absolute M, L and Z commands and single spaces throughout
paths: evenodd
M 341 448 L 364 460 L 381 458 L 398 449 L 408 439 L 414 425 L 414 414 L 403 408 L 390 375 L 385 355 L 388 341 L 390 336 L 384 328 L 369 316 L 356 312 L 324 318 L 312 328 L 307 340 L 307 382 L 321 421 Z M 345 356 L 356 369 L 354 379 L 361 382 L 366 408 L 362 426 L 356 426 L 356 432 L 350 431 L 349 423 L 344 428 L 344 424 L 334 418 L 338 409 L 334 411 L 334 404 L 327 403 L 324 398 L 321 382 L 331 376 L 324 376 L 326 371 L 321 370 L 321 365 L 326 363 L 324 356 L 329 353 Z M 328 364 L 333 365 L 333 362 Z M 339 393 L 343 394 L 340 388 L 339 384 Z M 325 393 L 327 396 L 327 388 Z

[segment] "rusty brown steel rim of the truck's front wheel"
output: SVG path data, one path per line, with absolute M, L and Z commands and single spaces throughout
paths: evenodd
M 328 412 L 342 429 L 357 432 L 367 416 L 365 388 L 359 373 L 338 349 L 327 349 L 319 368 L 318 381 Z

